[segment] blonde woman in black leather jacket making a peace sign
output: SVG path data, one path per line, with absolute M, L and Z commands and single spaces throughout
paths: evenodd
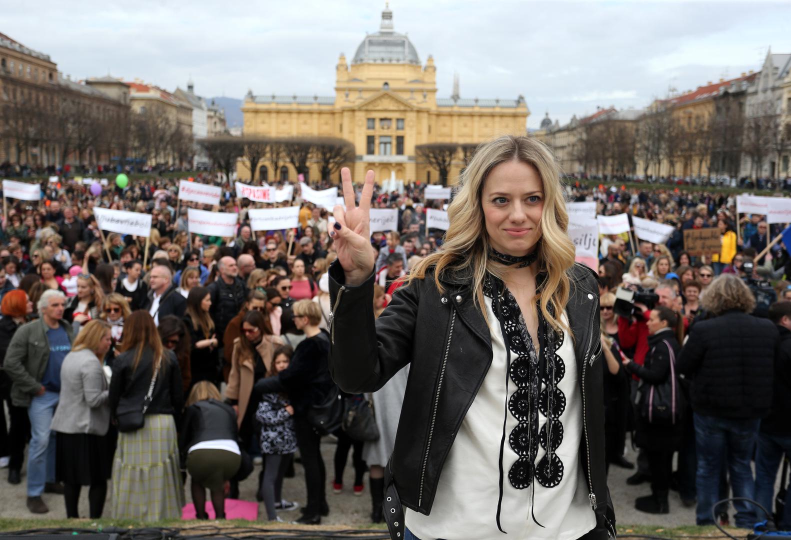
M 411 270 L 376 320 L 374 174 L 360 206 L 348 168 L 341 177 L 333 379 L 346 392 L 374 391 L 411 366 L 410 421 L 399 425 L 384 488 L 391 534 L 403 538 L 406 523 L 417 538 L 614 536 L 599 289 L 574 263 L 551 150 L 509 135 L 480 145 L 448 208 L 442 249 Z

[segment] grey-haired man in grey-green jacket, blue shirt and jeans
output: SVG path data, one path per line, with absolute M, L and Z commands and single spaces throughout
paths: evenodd
M 20 327 L 8 346 L 3 368 L 12 381 L 11 401 L 27 407 L 30 417 L 28 447 L 28 510 L 49 512 L 41 493 L 63 493 L 55 484 L 55 436 L 52 415 L 58 406 L 60 368 L 71 350 L 71 326 L 64 322 L 66 296 L 47 290 L 39 300 L 41 318 Z

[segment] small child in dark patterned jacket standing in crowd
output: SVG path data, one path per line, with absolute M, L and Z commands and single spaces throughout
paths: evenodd
M 274 349 L 267 376 L 275 376 L 288 368 L 292 353 L 291 347 L 287 345 Z M 291 455 L 297 451 L 293 413 L 293 406 L 282 394 L 262 395 L 258 410 L 255 411 L 255 418 L 261 424 L 261 454 L 264 466 L 261 491 L 263 504 L 267 508 L 267 519 L 271 521 L 282 521 L 276 513 L 278 509 L 297 508 L 297 503 L 281 498 L 283 475 Z

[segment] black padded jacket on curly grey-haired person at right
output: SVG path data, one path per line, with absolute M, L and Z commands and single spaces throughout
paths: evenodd
M 761 418 L 772 406 L 778 329 L 768 319 L 732 310 L 694 324 L 679 355 L 679 372 L 692 377 L 695 413 Z

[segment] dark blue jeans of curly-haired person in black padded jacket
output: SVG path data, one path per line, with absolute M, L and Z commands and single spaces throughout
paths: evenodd
M 713 525 L 711 509 L 717 502 L 720 474 L 727 462 L 733 497 L 753 498 L 755 481 L 750 460 L 755 450 L 760 421 L 741 418 L 710 417 L 694 414 L 695 450 L 698 454 L 698 509 L 696 523 Z M 727 452 L 727 453 L 726 453 Z M 734 501 L 736 527 L 752 528 L 755 508 L 744 500 Z

